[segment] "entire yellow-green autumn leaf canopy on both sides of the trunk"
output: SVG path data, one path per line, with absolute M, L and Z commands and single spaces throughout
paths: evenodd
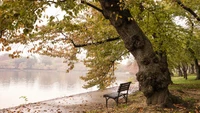
M 120 7 L 130 9 L 154 51 L 166 53 L 170 68 L 191 63 L 188 48 L 199 59 L 199 4 L 198 0 L 120 0 Z M 54 7 L 62 11 L 62 18 L 45 12 Z M 116 20 L 119 18 L 123 17 L 116 16 Z M 12 58 L 20 57 L 25 50 L 13 48 L 16 44 L 31 54 L 63 57 L 69 65 L 67 71 L 73 69 L 83 48 L 87 51 L 84 63 L 89 67 L 87 76 L 82 77 L 88 82 L 85 88 L 105 88 L 113 83 L 116 61 L 130 54 L 98 0 L 3 0 L 0 43 L 1 51 L 11 51 Z

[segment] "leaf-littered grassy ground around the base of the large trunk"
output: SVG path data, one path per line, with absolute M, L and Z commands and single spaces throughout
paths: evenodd
M 188 76 L 187 80 L 183 77 L 172 77 L 174 84 L 169 86 L 170 92 L 184 100 L 181 104 L 174 104 L 175 108 L 147 106 L 146 98 L 138 91 L 129 95 L 128 104 L 121 103 L 116 106 L 113 103 L 109 108 L 88 113 L 200 113 L 200 80 L 195 78 L 194 75 Z

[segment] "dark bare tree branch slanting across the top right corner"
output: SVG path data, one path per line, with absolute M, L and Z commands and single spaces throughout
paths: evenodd
M 190 14 L 192 14 L 198 21 L 200 21 L 200 17 L 189 7 L 185 6 L 181 0 L 175 0 L 178 5 L 180 5 L 184 10 L 188 11 Z

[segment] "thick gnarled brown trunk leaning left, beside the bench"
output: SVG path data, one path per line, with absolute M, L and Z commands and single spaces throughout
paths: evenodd
M 156 56 L 151 42 L 132 18 L 128 9 L 122 9 L 119 0 L 99 0 L 102 13 L 124 41 L 126 48 L 135 57 L 139 72 L 137 80 L 140 88 L 147 98 L 147 104 L 172 105 L 168 90 L 170 84 L 169 70 L 166 64 Z

